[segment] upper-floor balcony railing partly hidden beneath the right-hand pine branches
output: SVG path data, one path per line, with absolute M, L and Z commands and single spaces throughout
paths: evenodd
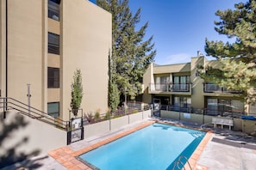
M 241 94 L 241 90 L 230 90 L 227 88 L 219 87 L 215 84 L 209 84 L 209 83 L 203 83 L 203 92 L 204 93 L 214 93 L 214 92 L 220 92 L 220 93 L 231 93 L 231 94 Z

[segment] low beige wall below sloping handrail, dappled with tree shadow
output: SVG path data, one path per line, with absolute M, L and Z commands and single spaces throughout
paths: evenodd
M 0 112 L 0 121 L 0 132 L 3 135 L 0 148 L 1 158 L 9 155 L 9 159 L 13 160 L 12 156 L 46 155 L 48 151 L 66 146 L 66 131 L 35 118 L 9 111 L 5 119 L 3 119 L 3 112 Z M 14 153 L 9 149 L 13 149 Z M 32 153 L 34 155 L 31 155 Z M 1 162 L 0 165 L 3 166 L 4 163 L 6 162 Z

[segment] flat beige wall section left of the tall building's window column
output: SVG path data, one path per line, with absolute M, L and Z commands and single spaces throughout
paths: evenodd
M 29 83 L 31 105 L 39 109 L 42 109 L 45 87 L 42 5 L 42 1 L 8 1 L 8 95 L 27 103 Z

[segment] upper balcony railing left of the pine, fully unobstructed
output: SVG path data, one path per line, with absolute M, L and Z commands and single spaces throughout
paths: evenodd
M 151 83 L 150 92 L 190 92 L 190 83 Z

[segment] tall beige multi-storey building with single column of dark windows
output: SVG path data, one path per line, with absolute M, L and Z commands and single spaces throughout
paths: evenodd
M 87 112 L 108 109 L 111 14 L 87 0 L 1 0 L 0 90 L 69 119 L 74 72 Z M 28 92 L 29 91 L 29 92 Z

